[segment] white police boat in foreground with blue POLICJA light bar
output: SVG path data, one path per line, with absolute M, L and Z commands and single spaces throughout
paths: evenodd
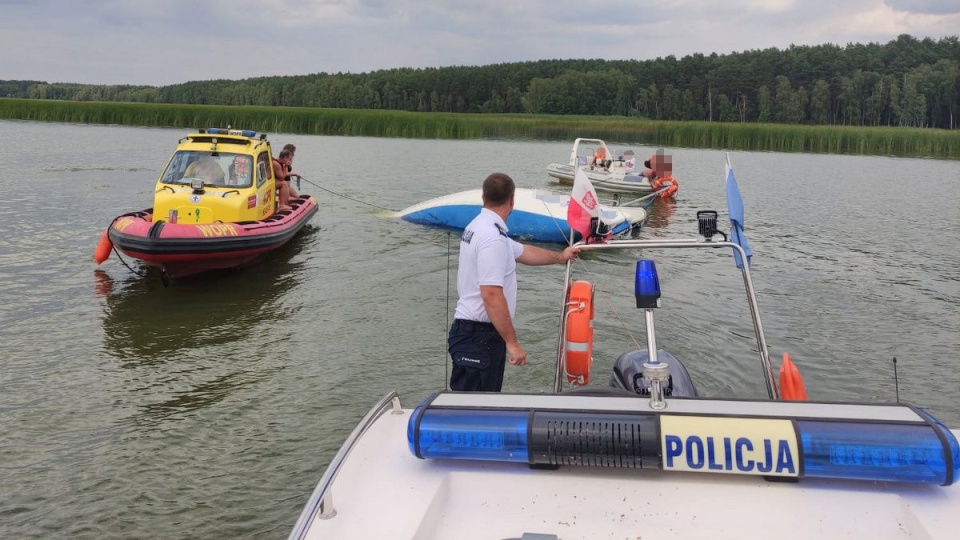
M 731 219 L 728 240 L 717 212 L 697 221 L 693 238 L 580 245 L 581 259 L 624 260 L 624 303 L 642 313 L 646 339 L 608 385 L 589 385 L 593 297 L 606 289 L 568 265 L 552 392 L 438 391 L 408 406 L 386 394 L 289 538 L 956 538 L 960 430 L 905 403 L 806 400 L 789 359 L 774 374 L 742 227 Z M 670 295 L 656 263 L 724 253 L 740 263 L 765 398 L 700 395 L 657 341 L 654 313 Z

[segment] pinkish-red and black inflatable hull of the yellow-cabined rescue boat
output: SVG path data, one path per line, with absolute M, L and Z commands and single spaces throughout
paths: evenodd
M 152 209 L 123 214 L 108 229 L 123 254 L 162 270 L 171 278 L 247 266 L 293 238 L 317 213 L 317 201 L 305 195 L 290 201 L 292 210 L 259 221 L 200 225 L 153 221 Z

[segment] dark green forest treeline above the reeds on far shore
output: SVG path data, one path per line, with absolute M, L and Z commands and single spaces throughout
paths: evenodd
M 542 60 L 164 87 L 0 81 L 0 97 L 955 129 L 960 39 Z

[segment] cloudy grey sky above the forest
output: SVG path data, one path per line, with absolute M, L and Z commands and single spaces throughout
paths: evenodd
M 0 80 L 166 86 L 960 35 L 960 0 L 0 0 Z

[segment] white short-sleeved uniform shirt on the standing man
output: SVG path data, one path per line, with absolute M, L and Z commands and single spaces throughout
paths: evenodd
M 510 318 L 517 309 L 517 257 L 523 244 L 507 237 L 507 224 L 493 210 L 483 208 L 460 237 L 457 268 L 457 319 L 490 322 L 480 296 L 481 285 L 503 287 Z

